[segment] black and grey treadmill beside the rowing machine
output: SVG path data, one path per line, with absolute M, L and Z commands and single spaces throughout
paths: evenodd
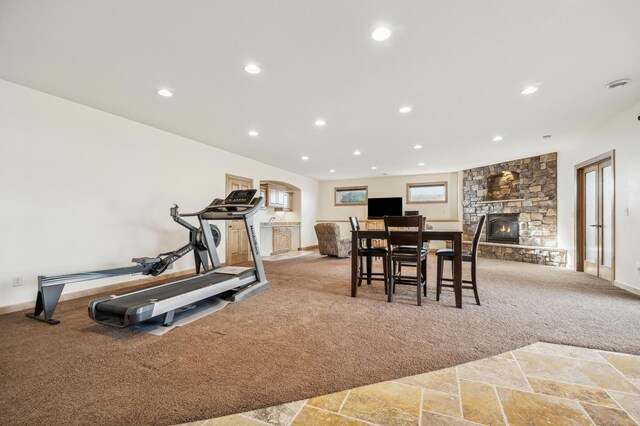
M 200 222 L 212 269 L 194 277 L 92 300 L 89 303 L 91 319 L 115 327 L 128 327 L 162 315 L 162 324 L 168 326 L 177 309 L 198 301 L 219 295 L 229 302 L 240 302 L 266 291 L 269 284 L 253 225 L 253 216 L 264 199 L 254 198 L 255 194 L 255 189 L 232 191 L 226 199 L 216 198 L 196 213 L 179 213 L 176 206 L 174 214 L 177 217 L 196 217 Z M 209 224 L 211 220 L 244 221 L 253 268 L 220 265 Z

